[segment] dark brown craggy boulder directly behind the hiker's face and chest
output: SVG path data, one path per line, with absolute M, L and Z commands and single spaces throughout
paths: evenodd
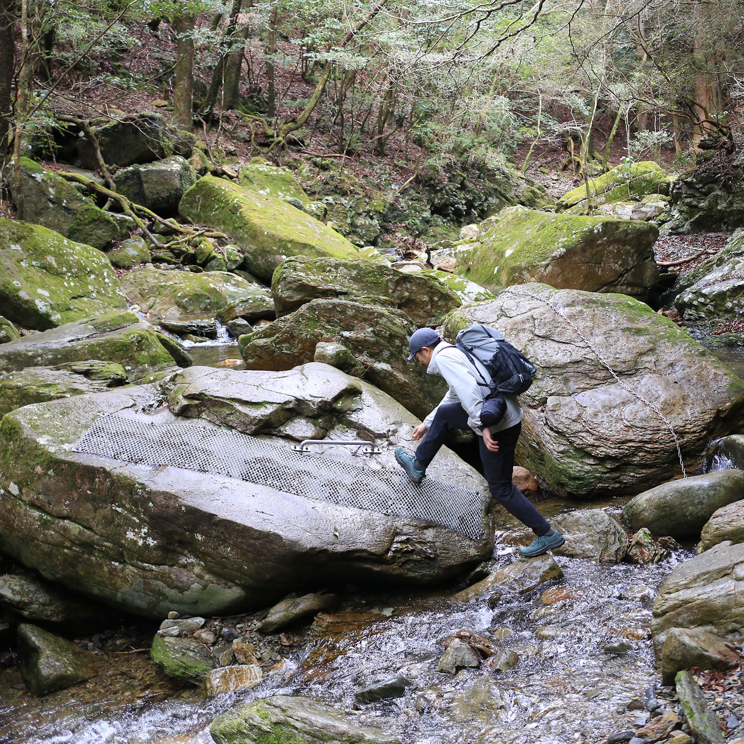
M 442 399 L 446 382 L 407 362 L 416 327 L 400 310 L 349 300 L 312 300 L 274 323 L 240 336 L 240 353 L 251 370 L 288 370 L 311 362 L 320 344 L 341 347 L 322 357 L 380 390 L 423 418 Z M 318 357 L 318 361 L 321 357 Z

